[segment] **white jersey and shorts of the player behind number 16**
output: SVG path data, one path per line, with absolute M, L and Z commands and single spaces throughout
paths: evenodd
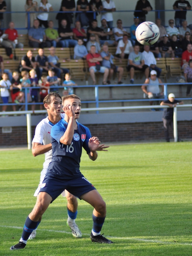
M 61 114 L 61 117 L 64 118 L 65 114 Z M 54 126 L 54 124 L 52 122 L 50 122 L 50 120 L 48 119 L 48 116 L 46 118 L 42 119 L 36 126 L 35 136 L 32 140 L 32 143 L 37 142 L 42 145 L 50 144 L 51 143 L 51 129 L 53 126 Z M 52 149 L 45 153 L 45 161 L 43 163 L 43 170 L 41 171 L 40 183 L 39 183 L 37 190 L 35 191 L 34 196 L 37 196 L 37 194 L 39 192 L 40 185 L 42 184 L 42 181 L 45 177 L 47 168 L 48 168 L 51 160 L 52 160 Z

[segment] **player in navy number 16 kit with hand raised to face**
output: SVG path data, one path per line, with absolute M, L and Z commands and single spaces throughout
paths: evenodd
M 82 147 L 89 158 L 97 159 L 100 141 L 91 137 L 89 129 L 76 122 L 81 112 L 81 100 L 72 94 L 63 97 L 65 118 L 55 124 L 51 131 L 52 161 L 41 184 L 36 204 L 25 221 L 22 237 L 10 250 L 23 249 L 30 234 L 40 223 L 41 216 L 65 189 L 94 207 L 92 242 L 113 243 L 100 235 L 106 216 L 106 204 L 96 188 L 80 172 Z

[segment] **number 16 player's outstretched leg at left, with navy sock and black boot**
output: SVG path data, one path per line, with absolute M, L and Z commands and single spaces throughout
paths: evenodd
M 40 223 L 41 216 L 52 201 L 52 197 L 46 192 L 40 192 L 37 196 L 36 204 L 32 212 L 28 215 L 25 225 L 23 227 L 23 233 L 19 243 L 11 246 L 10 250 L 24 249 L 27 243 L 27 239 L 34 229 L 36 229 Z

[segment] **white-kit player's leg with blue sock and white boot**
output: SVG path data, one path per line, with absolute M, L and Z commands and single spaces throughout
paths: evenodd
M 77 197 L 69 193 L 67 190 L 65 190 L 65 196 L 67 198 L 67 213 L 68 213 L 68 219 L 67 219 L 67 226 L 70 227 L 72 231 L 72 235 L 76 238 L 81 238 L 82 234 L 79 230 L 77 224 L 75 223 L 75 219 L 77 218 Z

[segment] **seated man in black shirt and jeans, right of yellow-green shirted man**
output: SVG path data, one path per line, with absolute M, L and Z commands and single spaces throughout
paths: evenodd
M 67 25 L 66 19 L 63 19 L 61 21 L 61 27 L 58 28 L 58 33 L 61 37 L 60 44 L 62 45 L 62 47 L 75 47 L 77 45 L 77 40 L 71 39 L 71 36 L 73 36 L 73 32 L 70 25 Z

